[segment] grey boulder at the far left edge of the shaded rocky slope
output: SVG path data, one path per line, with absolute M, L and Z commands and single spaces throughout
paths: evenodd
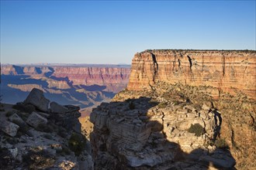
M 5 132 L 5 134 L 14 137 L 19 130 L 19 126 L 10 121 L 0 121 L 0 130 Z

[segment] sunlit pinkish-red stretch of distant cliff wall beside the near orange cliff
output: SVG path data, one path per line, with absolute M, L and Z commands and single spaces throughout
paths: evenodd
M 115 93 L 123 90 L 128 83 L 130 68 L 109 68 L 109 67 L 54 67 L 52 76 L 67 77 L 73 85 L 83 84 L 92 86 L 106 86 L 107 91 Z

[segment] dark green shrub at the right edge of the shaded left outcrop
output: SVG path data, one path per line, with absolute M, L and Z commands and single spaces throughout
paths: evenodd
M 73 133 L 68 140 L 68 147 L 74 151 L 74 155 L 78 156 L 85 149 L 86 140 L 83 135 Z

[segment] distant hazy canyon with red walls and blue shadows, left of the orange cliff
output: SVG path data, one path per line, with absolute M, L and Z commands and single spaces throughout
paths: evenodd
M 81 107 L 88 115 L 92 107 L 109 101 L 123 90 L 130 76 L 129 65 L 2 65 L 2 102 L 16 104 L 33 89 L 60 104 Z

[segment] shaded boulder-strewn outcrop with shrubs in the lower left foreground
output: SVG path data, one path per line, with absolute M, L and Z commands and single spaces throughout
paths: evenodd
M 78 110 L 50 102 L 39 89 L 22 103 L 1 104 L 1 169 L 93 169 Z

